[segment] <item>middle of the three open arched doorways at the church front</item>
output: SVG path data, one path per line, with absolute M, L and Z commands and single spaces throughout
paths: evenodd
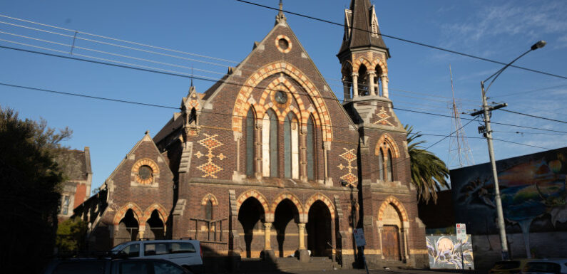
M 287 257 L 297 251 L 299 246 L 300 214 L 297 206 L 290 199 L 283 199 L 277 204 L 274 213 L 274 228 L 277 233 L 278 257 Z

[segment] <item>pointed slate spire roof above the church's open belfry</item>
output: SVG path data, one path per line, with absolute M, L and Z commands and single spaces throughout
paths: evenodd
M 339 55 L 349 48 L 367 48 L 370 46 L 384 48 L 388 51 L 382 36 L 372 36 L 372 28 L 370 26 L 370 16 L 372 16 L 372 5 L 369 0 L 352 0 L 350 1 L 350 10 L 352 11 L 352 31 L 350 37 L 342 41 Z M 380 28 L 378 28 L 380 33 Z

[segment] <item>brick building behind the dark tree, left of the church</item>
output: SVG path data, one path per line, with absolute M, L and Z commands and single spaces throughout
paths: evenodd
M 56 162 L 63 167 L 66 181 L 61 188 L 61 206 L 57 218 L 66 220 L 73 215 L 73 209 L 91 196 L 93 171 L 91 169 L 91 152 L 67 149 L 61 152 Z

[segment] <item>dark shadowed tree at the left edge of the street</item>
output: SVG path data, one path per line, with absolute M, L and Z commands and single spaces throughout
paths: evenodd
M 20 120 L 0 107 L 0 262 L 6 273 L 38 273 L 53 254 L 63 172 L 55 162 L 68 128 Z

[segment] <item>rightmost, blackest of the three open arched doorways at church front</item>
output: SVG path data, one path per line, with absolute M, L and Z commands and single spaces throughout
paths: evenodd
M 332 255 L 331 212 L 322 201 L 315 201 L 307 219 L 307 249 L 312 256 Z

